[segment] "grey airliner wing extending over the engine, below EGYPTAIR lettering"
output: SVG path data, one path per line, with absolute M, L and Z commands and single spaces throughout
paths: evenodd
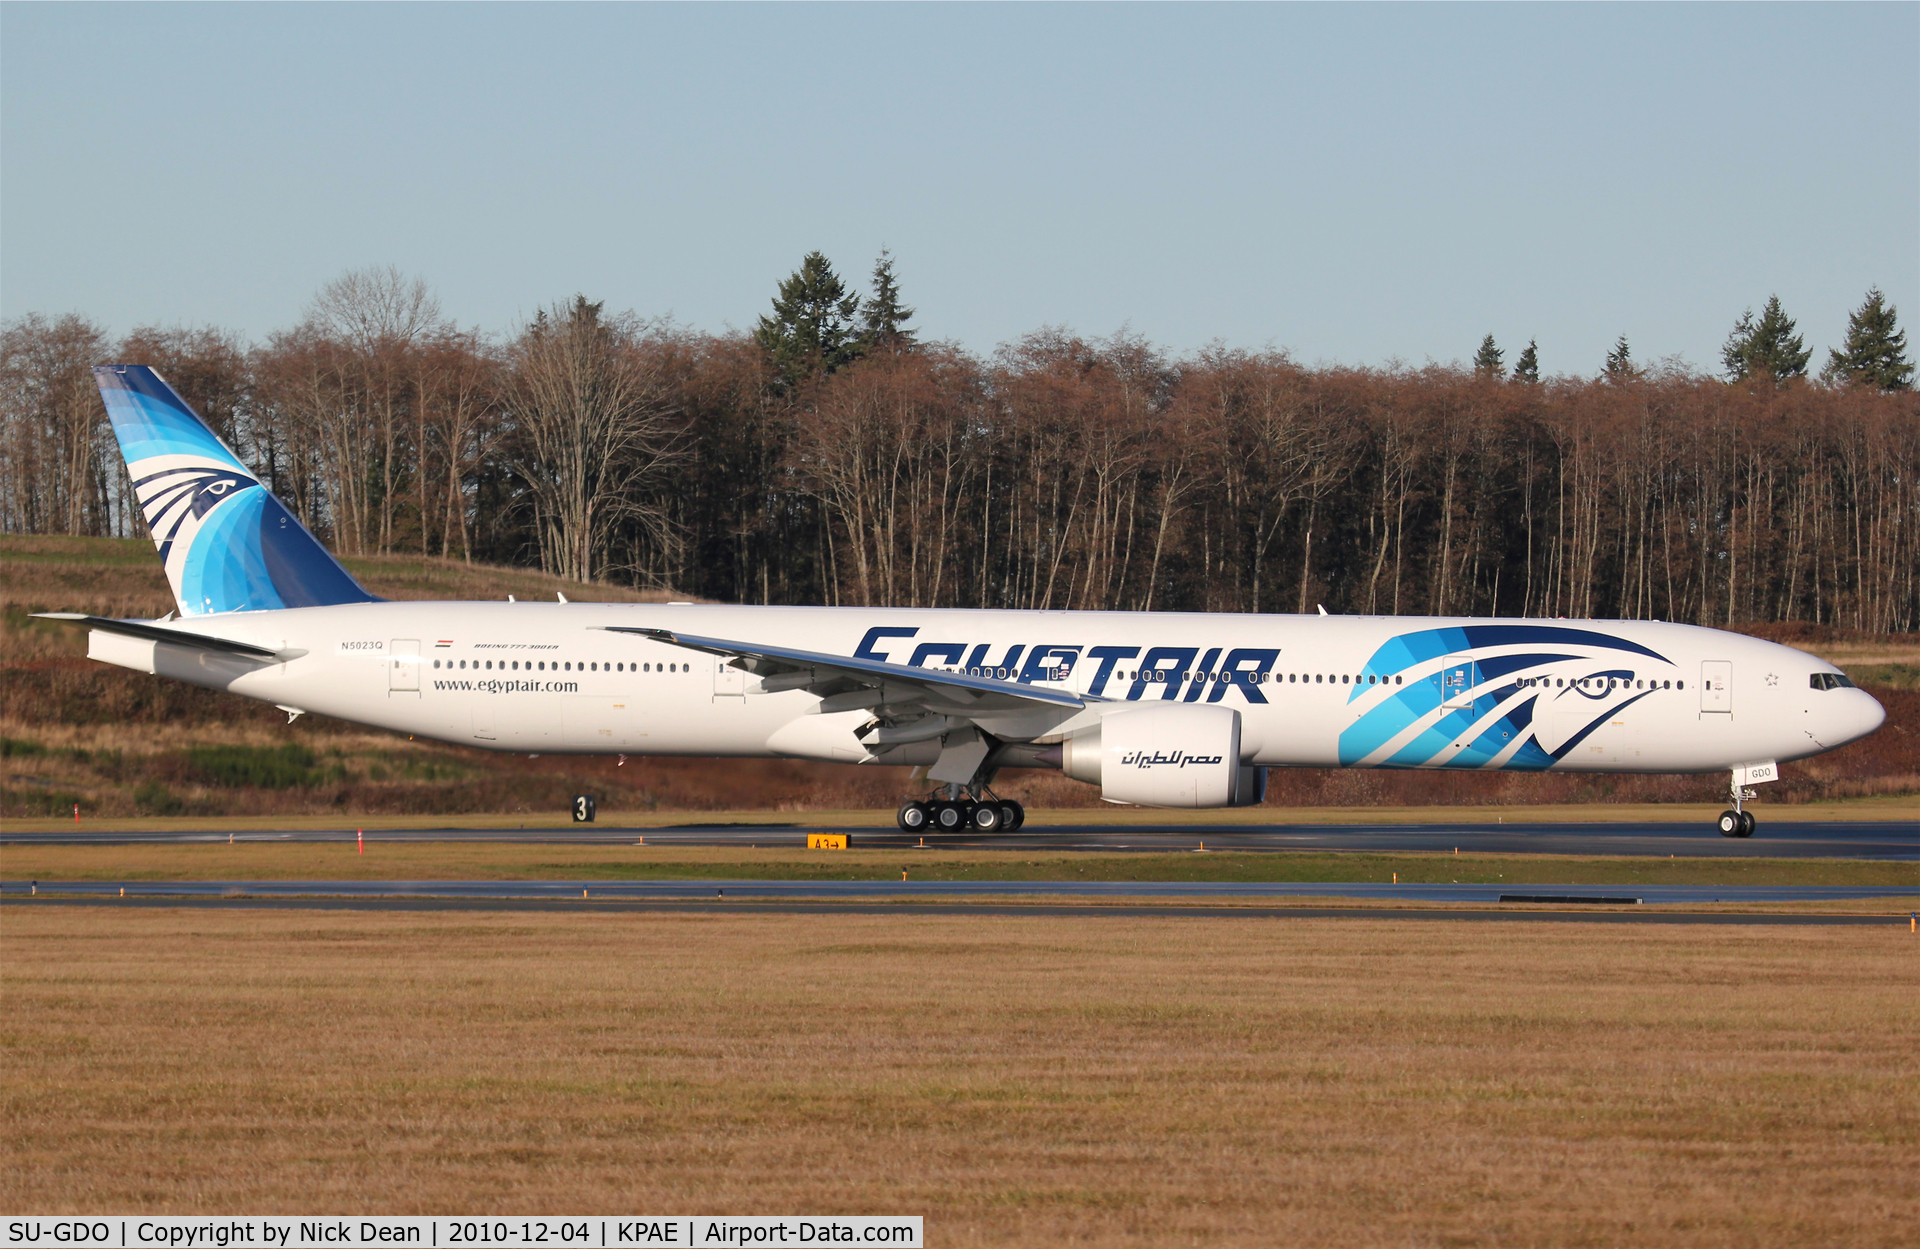
M 760 677 L 762 689 L 778 693 L 804 689 L 822 696 L 824 712 L 862 706 L 925 706 L 958 716 L 1048 708 L 1083 708 L 1087 698 L 1064 689 L 970 677 L 937 668 L 908 668 L 847 654 L 822 654 L 766 643 L 737 643 L 724 637 L 697 637 L 672 629 L 605 625 L 609 633 L 636 633 L 670 647 L 718 654 L 735 668 Z

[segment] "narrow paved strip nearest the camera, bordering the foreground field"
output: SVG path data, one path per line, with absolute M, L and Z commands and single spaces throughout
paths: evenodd
M 835 900 L 912 902 L 966 898 L 1348 898 L 1369 902 L 1480 902 L 1503 894 L 1565 900 L 1636 898 L 1644 904 L 1851 902 L 1901 890 L 1841 886 L 1713 884 L 1369 884 L 1369 883 L 1217 883 L 1217 881 L 6 881 L 0 896 L 119 898 L 463 898 L 463 900 Z M 1920 879 L 1912 890 L 1920 906 Z M 1590 904 L 1592 906 L 1592 904 Z

